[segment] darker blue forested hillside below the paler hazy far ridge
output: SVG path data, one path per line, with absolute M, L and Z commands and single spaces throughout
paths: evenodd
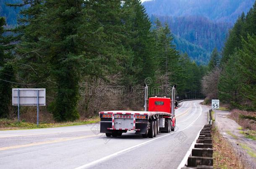
M 151 21 L 156 18 L 162 23 L 167 23 L 175 36 L 177 49 L 188 53 L 196 63 L 207 64 L 210 53 L 214 48 L 219 51 L 226 40 L 228 28 L 231 23 L 215 23 L 204 17 L 170 17 L 152 15 Z

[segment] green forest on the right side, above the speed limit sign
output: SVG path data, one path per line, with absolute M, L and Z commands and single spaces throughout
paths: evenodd
M 222 52 L 212 53 L 209 73 L 203 78 L 204 94 L 232 108 L 256 110 L 256 2 L 241 13 L 230 30 Z M 215 83 L 213 83 L 215 82 Z

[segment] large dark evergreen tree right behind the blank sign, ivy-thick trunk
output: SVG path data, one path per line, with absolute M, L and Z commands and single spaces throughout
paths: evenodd
M 27 1 L 24 1 L 26 4 Z M 82 0 L 29 1 L 30 7 L 21 13 L 25 15 L 18 30 L 21 44 L 18 54 L 21 63 L 28 65 L 34 73 L 27 81 L 46 82 L 47 78 L 55 84 L 55 100 L 50 104 L 50 111 L 56 121 L 78 119 L 78 81 L 83 55 L 83 35 L 78 28 L 83 23 Z M 32 71 L 31 70 L 31 71 Z M 35 87 L 43 85 L 36 85 Z

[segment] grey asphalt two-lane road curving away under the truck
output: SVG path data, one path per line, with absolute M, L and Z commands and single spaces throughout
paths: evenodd
M 180 103 L 175 131 L 153 139 L 132 131 L 107 138 L 99 124 L 0 131 L 0 169 L 176 169 L 208 121 L 200 102 Z

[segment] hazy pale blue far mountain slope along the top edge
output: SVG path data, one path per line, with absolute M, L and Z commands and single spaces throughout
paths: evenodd
M 217 22 L 235 23 L 247 13 L 254 0 L 152 0 L 143 3 L 149 16 L 204 16 Z

